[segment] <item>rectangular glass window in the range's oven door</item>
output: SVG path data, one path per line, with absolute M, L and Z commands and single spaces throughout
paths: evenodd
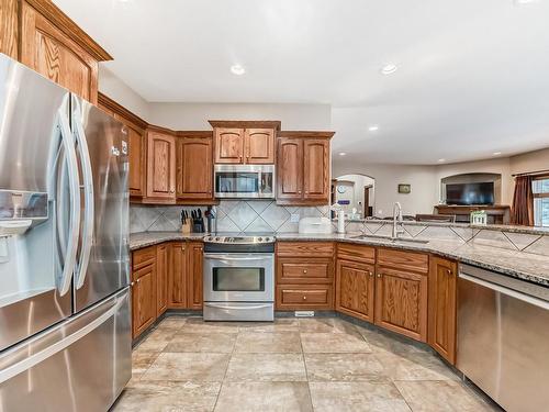
M 265 269 L 213 268 L 213 290 L 216 292 L 265 292 Z

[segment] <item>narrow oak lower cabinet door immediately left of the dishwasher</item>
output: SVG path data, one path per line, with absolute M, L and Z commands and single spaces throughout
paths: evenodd
M 432 257 L 429 270 L 428 343 L 456 364 L 457 264 Z

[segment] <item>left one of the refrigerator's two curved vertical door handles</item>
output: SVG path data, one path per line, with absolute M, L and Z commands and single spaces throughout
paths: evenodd
M 65 296 L 70 290 L 70 282 L 76 267 L 80 231 L 80 178 L 72 133 L 70 133 L 67 113 L 67 100 L 65 100 L 64 104 L 57 112 L 57 125 L 60 132 L 61 144 L 65 149 L 65 162 L 68 168 L 70 227 L 64 257 L 63 274 L 58 286 L 60 296 Z

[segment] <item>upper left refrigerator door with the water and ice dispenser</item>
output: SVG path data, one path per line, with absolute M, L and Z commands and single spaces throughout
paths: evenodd
M 77 172 L 69 92 L 0 54 L 0 350 L 71 314 Z

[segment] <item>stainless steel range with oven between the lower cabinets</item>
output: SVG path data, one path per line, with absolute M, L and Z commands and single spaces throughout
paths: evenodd
M 274 237 L 204 238 L 204 320 L 274 319 Z

